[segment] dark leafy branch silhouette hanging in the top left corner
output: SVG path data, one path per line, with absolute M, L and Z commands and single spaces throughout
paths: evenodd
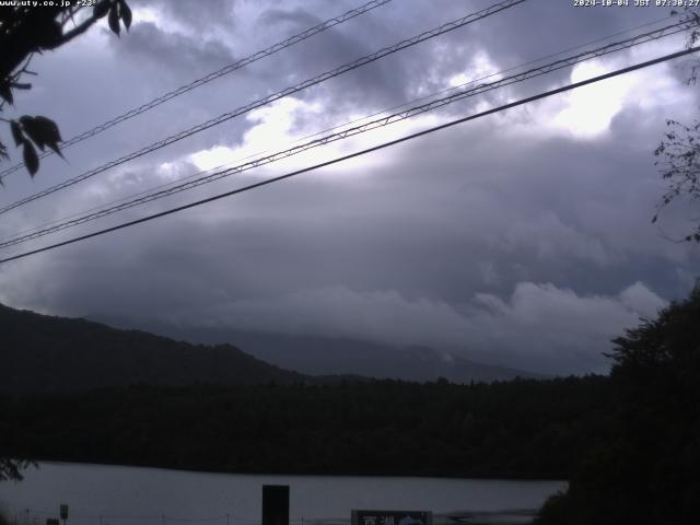
M 28 3 L 28 2 L 27 2 Z M 86 8 L 77 2 L 72 5 L 14 5 L 0 7 L 0 112 L 5 104 L 14 104 L 19 90 L 30 90 L 27 75 L 36 73 L 28 69 L 35 52 L 56 49 L 88 31 L 97 20 L 108 16 L 110 30 L 119 35 L 120 23 L 129 28 L 131 10 L 126 0 L 100 0 L 88 16 Z M 77 19 L 82 19 L 77 22 Z M 39 167 L 36 152 L 50 148 L 60 154 L 61 136 L 58 126 L 44 116 L 24 115 L 9 120 L 12 139 L 22 148 L 24 164 L 34 176 Z M 0 160 L 9 159 L 8 147 L 0 142 Z

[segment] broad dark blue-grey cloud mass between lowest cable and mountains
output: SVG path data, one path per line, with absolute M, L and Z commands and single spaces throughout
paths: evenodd
M 404 148 L 400 171 L 373 170 L 361 185 L 332 173 L 300 178 L 83 245 L 48 259 L 61 279 L 43 300 L 74 314 L 354 334 L 548 372 L 603 371 L 609 338 L 653 315 L 658 294 L 678 285 L 653 270 L 686 249 L 670 253 L 634 223 L 648 219 L 645 210 L 621 197 L 643 194 L 644 185 L 617 174 L 629 151 L 600 143 L 582 151 L 557 139 L 523 141 L 499 158 L 485 138 L 492 125 Z M 469 155 L 430 171 L 429 152 L 465 143 L 474 147 Z M 571 165 L 574 153 L 597 163 Z M 616 215 L 592 218 L 593 205 Z M 620 220 L 629 229 L 606 235 Z M 656 268 L 648 267 L 650 252 Z

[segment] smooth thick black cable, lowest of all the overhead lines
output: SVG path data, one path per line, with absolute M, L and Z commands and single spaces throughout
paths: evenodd
M 467 117 L 458 118 L 456 120 L 452 120 L 450 122 L 442 124 L 440 126 L 434 126 L 432 128 L 428 128 L 428 129 L 424 129 L 422 131 L 418 131 L 416 133 L 407 135 L 407 136 L 401 137 L 399 139 L 390 140 L 388 142 L 383 142 L 381 144 L 374 145 L 372 148 L 366 148 L 364 150 L 357 151 L 354 153 L 350 153 L 348 155 L 339 156 L 339 158 L 332 159 L 330 161 L 326 161 L 326 162 L 322 162 L 322 163 L 318 163 L 318 164 L 314 164 L 313 166 L 308 166 L 308 167 L 304 167 L 304 168 L 301 168 L 301 170 L 296 170 L 294 172 L 287 173 L 284 175 L 280 175 L 278 177 L 268 178 L 267 180 L 261 180 L 259 183 L 250 184 L 248 186 L 244 186 L 243 188 L 237 188 L 237 189 L 234 189 L 234 190 L 231 190 L 231 191 L 226 191 L 224 194 L 215 195 L 213 197 L 208 197 L 206 199 L 197 200 L 195 202 L 189 202 L 187 205 L 178 206 L 176 208 L 171 208 L 170 210 L 165 210 L 165 211 L 161 211 L 159 213 L 153 213 L 151 215 L 142 217 L 142 218 L 136 219 L 133 221 L 124 222 L 121 224 L 117 224 L 116 226 L 112 226 L 112 228 L 107 228 L 107 229 L 104 229 L 104 230 L 100 230 L 97 232 L 89 233 L 86 235 L 81 235 L 79 237 L 73 237 L 73 238 L 70 238 L 68 241 L 63 241 L 61 243 L 51 244 L 49 246 L 44 246 L 42 248 L 33 249 L 33 250 L 30 250 L 30 252 L 24 252 L 22 254 L 14 255 L 14 256 L 11 256 L 11 257 L 5 257 L 3 259 L 0 259 L 0 264 L 9 262 L 11 260 L 21 259 L 21 258 L 24 258 L 24 257 L 28 257 L 31 255 L 39 254 L 42 252 L 48 252 L 50 249 L 55 249 L 55 248 L 58 248 L 60 246 L 66 246 L 66 245 L 69 245 L 69 244 L 78 243 L 80 241 L 85 241 L 88 238 L 96 237 L 98 235 L 104 235 L 106 233 L 115 232 L 117 230 L 122 230 L 122 229 L 128 228 L 128 226 L 133 226 L 136 224 L 141 224 L 143 222 L 149 222 L 149 221 L 152 221 L 154 219 L 159 219 L 161 217 L 170 215 L 170 214 L 176 213 L 178 211 L 187 210 L 189 208 L 195 208 L 197 206 L 206 205 L 208 202 L 213 202 L 215 200 L 220 200 L 220 199 L 223 199 L 223 198 L 226 198 L 226 197 L 231 197 L 231 196 L 234 196 L 234 195 L 237 195 L 237 194 L 249 191 L 252 189 L 259 188 L 261 186 L 267 186 L 267 185 L 272 184 L 272 183 L 277 183 L 277 182 L 280 182 L 280 180 L 284 180 L 287 178 L 291 178 L 291 177 L 296 176 L 296 175 L 301 175 L 302 173 L 307 173 L 307 172 L 312 172 L 312 171 L 315 171 L 315 170 L 319 170 L 322 167 L 330 166 L 330 165 L 337 164 L 339 162 L 343 162 L 343 161 L 347 161 L 347 160 L 350 160 L 350 159 L 354 159 L 357 156 L 365 155 L 365 154 L 372 153 L 374 151 L 383 150 L 384 148 L 396 145 L 396 144 L 399 144 L 401 142 L 406 142 L 408 140 L 412 140 L 412 139 L 416 139 L 416 138 L 419 138 L 419 137 L 423 137 L 425 135 L 433 133 L 433 132 L 439 131 L 441 129 L 451 128 L 451 127 L 456 126 L 458 124 L 464 124 L 464 122 L 467 122 L 467 121 L 470 121 L 470 120 L 476 120 L 477 118 L 486 117 L 488 115 L 493 115 L 495 113 L 500 113 L 500 112 L 503 112 L 503 110 L 506 110 L 506 109 L 511 109 L 513 107 L 521 106 L 523 104 L 528 104 L 530 102 L 539 101 L 539 100 L 546 98 L 548 96 L 552 96 L 552 95 L 556 95 L 556 94 L 559 94 L 559 93 L 564 93 L 567 91 L 571 91 L 571 90 L 574 90 L 576 88 L 582 88 L 584 85 L 588 85 L 588 84 L 592 84 L 592 83 L 595 83 L 595 82 L 600 82 L 603 80 L 610 79 L 610 78 L 614 78 L 614 77 L 618 77 L 620 74 L 626 74 L 626 73 L 629 73 L 631 71 L 637 71 L 639 69 L 648 68 L 648 67 L 654 66 L 656 63 L 661 63 L 661 62 L 665 62 L 665 61 L 668 61 L 668 60 L 673 60 L 675 58 L 679 58 L 679 57 L 682 57 L 682 56 L 686 56 L 686 55 L 690 55 L 691 52 L 696 52 L 698 50 L 700 50 L 700 46 L 696 46 L 696 47 L 691 47 L 691 48 L 688 48 L 688 49 L 684 49 L 682 51 L 677 51 L 677 52 L 673 52 L 673 54 L 669 54 L 669 55 L 665 55 L 665 56 L 660 57 L 660 58 L 655 58 L 655 59 L 652 59 L 652 60 L 646 60 L 644 62 L 640 62 L 640 63 L 637 63 L 634 66 L 629 66 L 627 68 L 618 69 L 618 70 L 611 71 L 609 73 L 600 74 L 600 75 L 594 77 L 592 79 L 583 80 L 581 82 L 575 82 L 575 83 L 572 83 L 572 84 L 569 84 L 569 85 L 564 85 L 562 88 L 558 88 L 556 90 L 550 90 L 550 91 L 547 91 L 547 92 L 544 92 L 544 93 L 539 93 L 537 95 L 528 96 L 526 98 L 522 98 L 520 101 L 512 102 L 510 104 L 505 104 L 505 105 L 498 106 L 498 107 L 494 107 L 494 108 L 491 108 L 491 109 L 487 109 L 487 110 L 478 113 L 476 115 L 469 115 Z

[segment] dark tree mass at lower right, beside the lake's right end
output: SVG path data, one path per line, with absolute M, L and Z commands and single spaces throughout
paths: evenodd
M 608 436 L 539 523 L 700 523 L 700 288 L 614 342 Z

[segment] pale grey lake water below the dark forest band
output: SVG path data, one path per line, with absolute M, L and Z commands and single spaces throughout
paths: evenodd
M 67 525 L 255 525 L 261 486 L 290 486 L 294 525 L 348 525 L 352 509 L 427 510 L 434 523 L 527 523 L 563 481 L 363 476 L 278 476 L 43 463 L 0 482 L 11 523 L 45 525 L 69 504 Z M 503 512 L 509 511 L 509 512 Z M 511 512 L 518 511 L 518 512 Z

